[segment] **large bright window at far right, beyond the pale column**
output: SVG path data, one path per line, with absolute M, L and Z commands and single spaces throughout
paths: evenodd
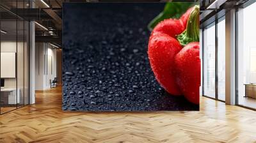
M 256 109 L 256 3 L 237 12 L 238 104 Z

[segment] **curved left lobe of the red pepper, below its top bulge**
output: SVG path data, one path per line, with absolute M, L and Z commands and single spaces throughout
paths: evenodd
M 157 81 L 173 95 L 180 95 L 175 82 L 174 58 L 182 49 L 179 41 L 164 33 L 154 33 L 148 42 L 148 59 Z

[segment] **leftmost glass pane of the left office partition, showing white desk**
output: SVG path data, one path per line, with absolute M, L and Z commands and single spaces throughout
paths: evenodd
M 16 109 L 17 22 L 1 21 L 1 113 Z

